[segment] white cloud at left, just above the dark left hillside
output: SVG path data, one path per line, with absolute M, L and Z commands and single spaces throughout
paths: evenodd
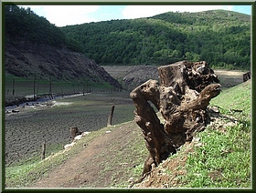
M 96 22 L 89 14 L 97 11 L 100 5 L 27 5 L 37 15 L 44 16 L 57 26 L 78 25 Z

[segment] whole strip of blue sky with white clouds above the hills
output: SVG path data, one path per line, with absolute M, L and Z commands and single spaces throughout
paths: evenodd
M 251 15 L 251 5 L 21 5 L 30 7 L 57 26 L 79 25 L 112 19 L 133 19 L 173 12 L 224 9 Z

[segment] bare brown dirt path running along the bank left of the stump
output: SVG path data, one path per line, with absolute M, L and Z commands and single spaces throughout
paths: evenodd
M 116 179 L 119 175 L 122 177 L 123 167 L 133 168 L 135 165 L 129 160 L 133 157 L 127 157 L 127 160 L 123 157 L 124 163 L 118 163 L 118 160 L 115 160 L 115 155 L 125 151 L 125 147 L 133 142 L 131 139 L 138 137 L 140 129 L 134 126 L 133 123 L 123 124 L 121 127 L 114 128 L 111 133 L 95 138 L 78 156 L 69 158 L 50 171 L 48 177 L 37 180 L 29 188 L 111 187 L 116 181 L 113 177 Z M 113 163 L 116 168 L 106 171 L 110 163 Z M 127 181 L 129 178 L 127 176 Z

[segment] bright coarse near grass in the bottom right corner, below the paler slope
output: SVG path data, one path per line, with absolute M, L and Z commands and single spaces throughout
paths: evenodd
M 251 186 L 250 127 L 239 123 L 227 134 L 208 129 L 197 135 L 204 144 L 187 158 L 188 188 L 249 188 Z

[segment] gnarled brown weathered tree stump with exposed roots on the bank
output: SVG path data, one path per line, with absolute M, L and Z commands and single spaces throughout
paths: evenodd
M 143 176 L 206 126 L 208 103 L 220 92 L 220 85 L 213 84 L 219 83 L 218 76 L 205 61 L 181 61 L 160 66 L 158 72 L 161 85 L 148 80 L 130 94 L 136 107 L 134 120 L 142 129 L 149 151 Z M 165 123 L 160 122 L 149 101 Z

